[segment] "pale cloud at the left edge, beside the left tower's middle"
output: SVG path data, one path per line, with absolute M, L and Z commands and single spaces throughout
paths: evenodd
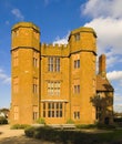
M 11 78 L 8 76 L 2 69 L 0 69 L 0 82 L 4 84 L 10 84 Z

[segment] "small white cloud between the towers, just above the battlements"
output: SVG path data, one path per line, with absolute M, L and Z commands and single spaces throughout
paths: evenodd
M 69 38 L 70 32 L 68 32 L 67 35 L 63 38 L 57 37 L 55 40 L 53 41 L 53 44 L 68 44 L 68 38 Z

